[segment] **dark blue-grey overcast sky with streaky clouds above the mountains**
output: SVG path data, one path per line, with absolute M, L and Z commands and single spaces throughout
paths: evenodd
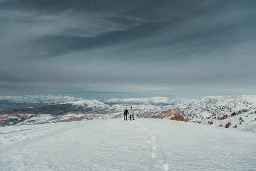
M 0 0 L 0 95 L 256 94 L 256 1 Z

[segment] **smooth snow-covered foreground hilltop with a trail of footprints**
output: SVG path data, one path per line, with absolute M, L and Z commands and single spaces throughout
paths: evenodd
M 256 134 L 165 119 L 0 127 L 1 170 L 256 170 Z

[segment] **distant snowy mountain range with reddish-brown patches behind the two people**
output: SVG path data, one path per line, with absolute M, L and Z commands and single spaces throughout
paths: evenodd
M 181 115 L 189 122 L 210 124 L 211 121 L 215 122 L 215 119 L 218 121 L 227 119 L 218 118 L 223 118 L 224 115 L 231 116 L 235 112 L 236 114 L 250 114 L 250 124 L 256 123 L 253 118 L 254 115 L 256 116 L 254 114 L 256 95 L 208 96 L 201 99 L 155 97 L 94 100 L 60 95 L 40 95 L 0 96 L 0 124 L 8 126 L 122 118 L 123 110 L 130 106 L 133 106 L 135 116 L 138 118 L 173 119 L 174 115 Z

